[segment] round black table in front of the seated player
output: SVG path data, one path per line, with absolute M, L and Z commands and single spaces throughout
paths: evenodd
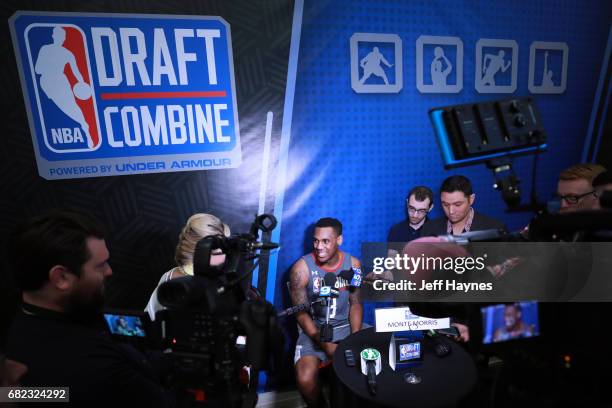
M 334 371 L 339 380 L 359 397 L 376 404 L 392 407 L 444 407 L 452 406 L 465 397 L 476 385 L 476 365 L 469 354 L 453 340 L 438 339 L 451 347 L 451 352 L 438 357 L 434 342 L 427 336 L 421 340 L 423 360 L 418 366 L 393 371 L 389 367 L 389 342 L 392 333 L 376 333 L 374 328 L 353 333 L 338 345 L 334 353 Z M 366 377 L 361 373 L 361 350 L 373 347 L 380 351 L 382 372 L 376 376 L 376 395 L 368 391 Z M 344 350 L 355 355 L 355 366 L 348 367 Z M 421 377 L 418 384 L 408 384 L 405 373 Z

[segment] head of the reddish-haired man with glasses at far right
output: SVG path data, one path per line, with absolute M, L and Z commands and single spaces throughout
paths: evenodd
M 605 167 L 593 163 L 571 166 L 559 174 L 557 196 L 561 201 L 560 213 L 570 213 L 598 208 L 597 192 L 593 179 L 605 171 Z

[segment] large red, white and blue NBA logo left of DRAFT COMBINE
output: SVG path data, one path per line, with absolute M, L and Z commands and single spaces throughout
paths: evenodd
M 56 153 L 98 149 L 100 122 L 84 32 L 73 24 L 34 23 L 24 37 L 38 108 L 32 115 L 46 147 Z

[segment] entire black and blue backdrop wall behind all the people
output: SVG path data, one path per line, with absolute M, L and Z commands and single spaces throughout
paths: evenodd
M 141 309 L 190 215 L 240 233 L 273 213 L 281 247 L 252 283 L 280 309 L 317 219 L 340 219 L 360 258 L 406 218 L 413 186 L 463 174 L 477 211 L 524 227 L 484 165 L 445 169 L 428 111 L 533 97 L 547 150 L 536 177 L 532 156 L 513 168 L 524 199 L 533 186 L 548 200 L 562 169 L 594 160 L 612 8 L 477 3 L 3 1 L 0 248 L 29 216 L 90 212 L 109 229 L 110 305 Z

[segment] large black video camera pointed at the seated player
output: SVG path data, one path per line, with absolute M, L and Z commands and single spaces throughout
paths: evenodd
M 258 371 L 280 364 L 283 336 L 274 307 L 242 285 L 257 265 L 253 260 L 258 251 L 278 247 L 258 240 L 259 231 L 269 233 L 275 226 L 274 216 L 263 214 L 255 217 L 248 233 L 201 239 L 194 252 L 194 275 L 158 288 L 158 300 L 167 309 L 143 325 L 146 345 L 163 352 L 170 365 L 167 385 L 183 391 L 181 405 L 194 405 L 184 396 L 197 391 L 206 403 L 254 406 Z M 210 255 L 217 249 L 226 260 L 212 266 Z M 112 332 L 109 317 L 107 322 Z M 140 336 L 123 338 L 143 343 Z M 250 370 L 248 387 L 239 381 L 243 367 Z

